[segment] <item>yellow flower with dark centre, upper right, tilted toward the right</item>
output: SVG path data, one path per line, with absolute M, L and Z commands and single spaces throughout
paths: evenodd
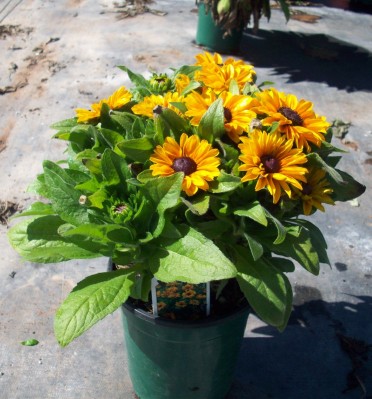
M 263 125 L 279 123 L 279 131 L 293 140 L 300 149 L 310 152 L 309 143 L 320 146 L 330 124 L 325 117 L 313 111 L 310 101 L 298 100 L 293 94 L 285 94 L 276 89 L 257 94 L 257 102 L 252 108 L 257 115 L 265 115 Z

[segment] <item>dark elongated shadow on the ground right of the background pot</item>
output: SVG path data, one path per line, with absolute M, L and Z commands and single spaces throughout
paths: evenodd
M 241 54 L 259 68 L 289 75 L 288 82 L 318 82 L 348 92 L 372 92 L 372 54 L 332 36 L 261 30 L 244 34 Z

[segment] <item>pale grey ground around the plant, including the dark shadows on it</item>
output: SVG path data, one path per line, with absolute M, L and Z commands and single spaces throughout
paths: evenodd
M 194 1 L 150 7 L 167 14 L 120 19 L 109 0 L 0 1 L 1 398 L 134 397 L 118 311 L 65 349 L 53 336 L 59 303 L 77 281 L 105 270 L 106 260 L 23 262 L 5 222 L 8 208 L 30 203 L 26 187 L 42 160 L 64 149 L 48 126 L 127 85 L 117 65 L 142 73 L 194 62 Z M 372 16 L 296 10 L 319 19 L 286 24 L 273 10 L 258 36 L 244 37 L 241 56 L 260 81 L 314 102 L 330 121 L 351 123 L 335 145 L 349 151 L 341 166 L 367 191 L 316 216 L 332 267 L 319 277 L 300 269 L 290 276 L 295 303 L 285 332 L 249 317 L 228 399 L 372 398 Z M 39 345 L 20 344 L 29 338 Z

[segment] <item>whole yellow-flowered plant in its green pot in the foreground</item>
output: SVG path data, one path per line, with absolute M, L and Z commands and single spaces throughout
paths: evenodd
M 286 273 L 329 263 L 307 216 L 365 187 L 337 168 L 326 118 L 257 85 L 252 65 L 203 53 L 149 78 L 120 68 L 133 87 L 52 126 L 66 156 L 43 163 L 44 199 L 9 239 L 31 262 L 110 260 L 58 309 L 62 346 L 121 307 L 141 399 L 222 399 L 249 311 L 283 330 Z

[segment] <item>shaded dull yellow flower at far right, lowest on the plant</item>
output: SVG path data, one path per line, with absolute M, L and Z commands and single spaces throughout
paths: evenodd
M 295 193 L 302 200 L 305 215 L 310 215 L 313 208 L 324 212 L 322 203 L 334 205 L 334 201 L 330 196 L 333 190 L 329 186 L 325 175 L 326 173 L 322 169 L 311 169 L 305 176 L 307 182 L 302 184 L 302 190 L 295 190 Z

